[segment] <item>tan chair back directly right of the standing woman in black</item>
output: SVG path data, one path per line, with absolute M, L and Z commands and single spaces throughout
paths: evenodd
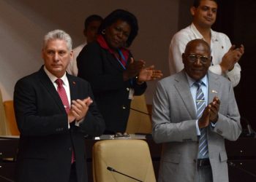
M 135 96 L 131 103 L 126 132 L 149 134 L 151 130 L 151 116 L 148 114 L 145 95 Z

